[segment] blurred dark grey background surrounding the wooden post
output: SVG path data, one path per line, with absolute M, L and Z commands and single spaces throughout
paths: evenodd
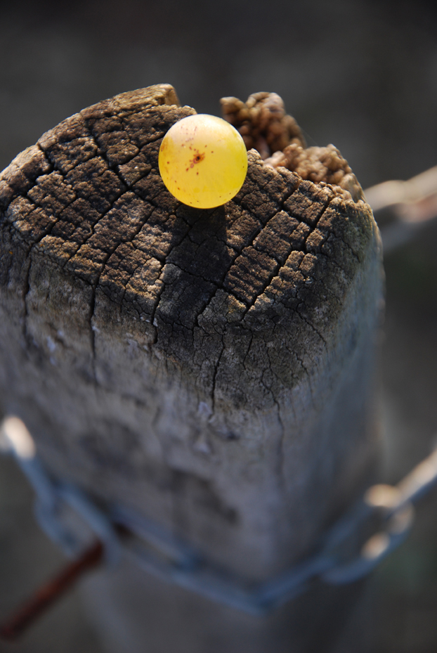
M 0 169 L 82 108 L 169 82 L 181 103 L 216 115 L 222 96 L 275 91 L 308 144 L 334 143 L 363 188 L 408 179 L 437 164 L 435 12 L 418 0 L 2 3 Z M 436 251 L 429 224 L 386 257 L 380 410 L 388 482 L 437 444 Z M 63 562 L 34 524 L 31 499 L 20 472 L 0 459 L 0 620 Z M 436 509 L 437 491 L 368 583 L 372 653 L 437 650 Z M 75 591 L 0 652 L 100 653 L 85 612 Z

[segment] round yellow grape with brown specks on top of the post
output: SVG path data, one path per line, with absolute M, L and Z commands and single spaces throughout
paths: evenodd
M 159 148 L 159 172 L 184 204 L 211 209 L 231 200 L 247 173 L 247 150 L 226 120 L 198 114 L 176 122 Z

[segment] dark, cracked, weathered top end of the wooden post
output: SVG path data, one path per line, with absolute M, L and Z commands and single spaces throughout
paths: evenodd
M 150 86 L 86 108 L 18 155 L 0 175 L 1 283 L 22 294 L 27 340 L 32 260 L 34 274 L 62 270 L 86 290 L 91 358 L 96 335 L 113 325 L 207 403 L 265 408 L 339 346 L 339 314 L 375 255 L 377 229 L 360 193 L 332 174 L 311 181 L 315 167 L 327 169 L 323 157 L 339 154 L 306 150 L 294 127 L 282 158 L 249 151 L 232 201 L 181 204 L 159 176 L 158 151 L 193 113 L 171 86 Z M 283 167 L 293 165 L 300 174 Z M 47 294 L 53 313 L 56 297 Z M 353 330 L 345 355 L 360 325 Z

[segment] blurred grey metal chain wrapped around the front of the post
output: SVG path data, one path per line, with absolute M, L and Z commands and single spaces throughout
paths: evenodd
M 129 557 L 164 581 L 251 614 L 278 607 L 316 579 L 344 584 L 369 574 L 403 541 L 412 524 L 413 505 L 437 484 L 434 451 L 397 486 L 372 486 L 332 526 L 313 555 L 270 581 L 251 583 L 218 567 L 196 548 L 130 508 L 114 505 L 104 512 L 81 489 L 53 479 L 41 465 L 32 437 L 18 418 L 4 420 L 0 446 L 5 453 L 14 455 L 30 481 L 36 493 L 35 515 L 41 528 L 67 555 L 77 555 L 85 543 L 79 531 L 63 521 L 65 505 L 103 543 L 109 564 L 116 564 L 122 556 Z M 120 537 L 116 524 L 129 529 L 132 537 Z

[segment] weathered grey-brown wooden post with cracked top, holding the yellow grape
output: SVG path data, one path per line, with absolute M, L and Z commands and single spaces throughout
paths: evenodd
M 167 84 L 123 93 L 0 175 L 1 408 L 54 474 L 262 580 L 311 551 L 372 473 L 379 235 L 359 186 L 323 172 L 334 148 L 311 154 L 318 181 L 302 147 L 301 174 L 250 150 L 233 201 L 181 205 L 157 153 L 193 113 Z M 105 600 L 129 574 L 143 585 L 119 606 L 141 614 L 130 653 L 303 652 L 317 630 L 293 648 L 290 608 L 256 621 L 114 574 Z

